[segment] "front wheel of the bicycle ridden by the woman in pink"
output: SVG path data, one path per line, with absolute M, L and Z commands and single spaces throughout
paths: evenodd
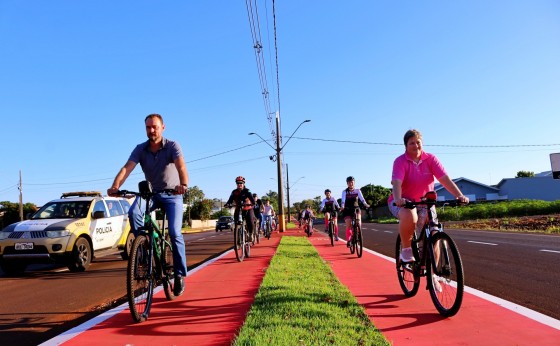
M 427 266 L 428 289 L 438 312 L 450 317 L 459 311 L 463 302 L 463 263 L 457 245 L 448 234 L 438 232 L 431 241 L 436 260 L 430 262 L 435 263 L 435 268 Z

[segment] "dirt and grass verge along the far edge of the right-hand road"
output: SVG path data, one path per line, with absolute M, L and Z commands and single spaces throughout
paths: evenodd
M 560 214 L 523 216 L 502 219 L 471 221 L 447 221 L 448 227 L 488 229 L 502 231 L 526 231 L 560 234 Z

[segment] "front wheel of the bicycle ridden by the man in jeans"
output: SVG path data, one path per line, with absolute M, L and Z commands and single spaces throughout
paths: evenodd
M 132 318 L 136 322 L 148 319 L 152 296 L 154 292 L 154 278 L 150 275 L 153 259 L 150 256 L 150 241 L 147 236 L 139 235 L 132 243 L 132 250 L 128 260 L 126 273 L 126 293 L 128 306 Z

